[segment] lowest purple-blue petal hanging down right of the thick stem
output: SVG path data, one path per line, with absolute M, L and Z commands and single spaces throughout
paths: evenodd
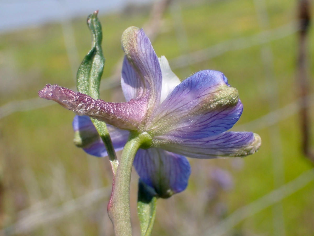
M 161 198 L 187 188 L 191 166 L 184 156 L 158 148 L 139 149 L 133 165 L 141 180 Z

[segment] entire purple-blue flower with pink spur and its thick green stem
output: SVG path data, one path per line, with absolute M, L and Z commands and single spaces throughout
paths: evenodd
M 140 177 L 139 198 L 151 195 L 149 203 L 153 197 L 168 198 L 187 187 L 191 168 L 185 156 L 246 156 L 261 145 L 255 133 L 226 132 L 240 118 L 243 105 L 223 73 L 203 70 L 180 82 L 167 59 L 157 57 L 143 29 L 134 26 L 123 32 L 122 47 L 121 86 L 126 102 L 105 102 L 58 85 L 48 84 L 39 91 L 41 98 L 77 114 L 74 141 L 90 155 L 103 157 L 107 151 L 89 117 L 108 124 L 116 151 L 124 147 L 108 205 L 115 235 L 122 235 L 122 226 L 116 224 L 129 214 L 128 200 L 122 203 L 119 197 L 129 194 L 130 178 L 125 176 L 131 175 L 132 163 Z M 113 216 L 111 211 L 124 215 Z M 129 221 L 129 216 L 123 219 Z M 142 235 L 149 235 L 145 232 Z

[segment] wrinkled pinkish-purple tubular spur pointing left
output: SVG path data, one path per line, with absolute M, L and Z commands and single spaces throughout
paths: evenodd
M 53 100 L 74 111 L 77 115 L 87 115 L 121 129 L 137 130 L 146 114 L 147 98 L 130 100 L 125 103 L 111 103 L 74 92 L 58 85 L 47 84 L 38 92 L 41 98 Z

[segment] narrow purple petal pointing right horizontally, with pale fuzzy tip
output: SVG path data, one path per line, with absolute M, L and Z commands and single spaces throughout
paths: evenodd
M 261 138 L 252 132 L 224 132 L 206 138 L 186 138 L 180 142 L 153 140 L 154 146 L 193 158 L 246 156 L 261 146 Z

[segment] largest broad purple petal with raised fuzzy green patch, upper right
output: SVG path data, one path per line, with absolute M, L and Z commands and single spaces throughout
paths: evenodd
M 243 105 L 223 73 L 203 70 L 182 81 L 156 110 L 148 131 L 157 139 L 204 138 L 229 130 Z

